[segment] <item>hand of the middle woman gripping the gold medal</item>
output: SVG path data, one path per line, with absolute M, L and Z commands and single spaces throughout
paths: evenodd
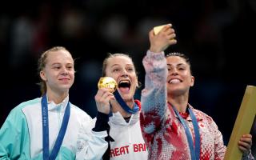
M 110 99 L 115 99 L 114 94 L 112 94 L 108 89 L 102 88 L 98 89 L 97 94 L 94 97 L 97 110 L 103 114 L 110 113 Z

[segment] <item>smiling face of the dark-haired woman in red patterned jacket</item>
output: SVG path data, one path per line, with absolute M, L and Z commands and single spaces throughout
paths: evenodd
M 166 58 L 166 62 L 168 68 L 167 93 L 174 96 L 188 94 L 190 86 L 194 86 L 190 64 L 179 56 L 169 56 Z

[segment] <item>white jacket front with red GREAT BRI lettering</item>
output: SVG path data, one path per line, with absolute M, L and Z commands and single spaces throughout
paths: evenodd
M 138 102 L 137 102 L 138 103 Z M 146 160 L 147 149 L 139 122 L 139 111 L 132 114 L 127 123 L 117 112 L 110 117 L 110 159 L 113 160 Z

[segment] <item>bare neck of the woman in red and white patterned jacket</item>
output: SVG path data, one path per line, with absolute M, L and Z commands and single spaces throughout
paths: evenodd
M 179 112 L 186 112 L 186 107 L 188 104 L 188 95 L 174 96 L 168 94 L 167 101 L 170 102 L 170 104 L 172 104 Z

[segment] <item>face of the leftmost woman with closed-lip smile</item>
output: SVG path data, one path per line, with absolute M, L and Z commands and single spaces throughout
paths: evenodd
M 40 77 L 46 82 L 47 94 L 68 94 L 74 83 L 74 60 L 71 54 L 67 50 L 54 50 L 46 54 L 46 64 L 40 71 Z

